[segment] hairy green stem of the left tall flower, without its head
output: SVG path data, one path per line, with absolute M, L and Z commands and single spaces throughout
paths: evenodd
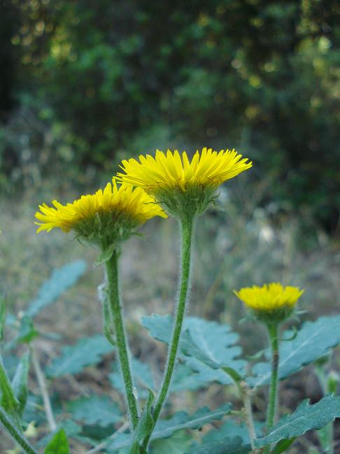
M 118 359 L 124 381 L 127 407 L 129 408 L 132 427 L 135 429 L 139 421 L 139 413 L 136 397 L 134 395 L 134 383 L 132 381 L 131 366 L 129 361 L 129 348 L 127 345 L 127 338 L 122 319 L 122 305 L 120 303 L 118 281 L 118 256 L 118 251 L 114 251 L 111 259 L 106 261 L 106 273 L 108 278 L 108 308 L 111 311 L 110 319 L 112 320 L 115 329 Z

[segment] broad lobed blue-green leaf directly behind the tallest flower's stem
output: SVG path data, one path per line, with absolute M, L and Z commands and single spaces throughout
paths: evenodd
M 165 343 L 171 338 L 172 319 L 169 315 L 143 317 L 143 326 L 150 336 Z M 238 334 L 230 331 L 226 324 L 208 322 L 197 317 L 187 317 L 183 324 L 180 340 L 180 353 L 192 371 L 196 372 L 197 382 L 218 381 L 223 385 L 232 383 L 231 374 L 220 370 L 227 366 L 234 375 L 243 375 L 246 362 L 236 359 L 241 355 L 241 348 L 234 345 Z

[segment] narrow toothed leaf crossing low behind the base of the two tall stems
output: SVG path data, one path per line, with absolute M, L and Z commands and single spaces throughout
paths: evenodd
M 223 416 L 229 414 L 231 408 L 231 404 L 224 404 L 214 411 L 203 407 L 192 415 L 188 415 L 185 411 L 179 411 L 168 420 L 157 421 L 151 440 L 167 438 L 181 429 L 199 429 L 208 422 L 221 420 Z M 119 450 L 129 446 L 130 443 L 131 436 L 129 434 L 119 434 L 115 439 L 108 442 L 107 448 L 108 450 Z

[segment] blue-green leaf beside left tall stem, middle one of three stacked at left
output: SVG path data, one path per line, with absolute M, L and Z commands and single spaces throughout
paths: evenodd
M 49 377 L 59 377 L 66 373 L 78 373 L 85 367 L 97 364 L 101 357 L 113 351 L 113 346 L 101 335 L 83 338 L 75 345 L 62 348 L 62 355 L 53 360 L 46 369 Z

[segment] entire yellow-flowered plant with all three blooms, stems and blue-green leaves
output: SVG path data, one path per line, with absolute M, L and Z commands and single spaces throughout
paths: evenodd
M 5 326 L 11 331 L 10 342 L 3 352 L 22 344 L 28 346 L 27 354 L 17 364 L 13 380 L 9 379 L 0 357 L 0 422 L 24 453 L 38 453 L 29 441 L 37 434 L 34 418 L 27 423 L 24 413 L 29 395 L 30 363 L 41 387 L 51 432 L 49 439 L 39 440 L 41 446 L 45 446 L 44 454 L 69 454 L 69 439 L 73 438 L 85 446 L 90 443 L 86 454 L 102 451 L 110 454 L 281 454 L 289 450 L 298 436 L 311 429 L 318 431 L 324 450 L 334 453 L 332 422 L 340 417 L 340 397 L 334 396 L 339 376 L 333 371 L 327 372 L 327 358 L 330 350 L 340 345 L 340 315 L 320 317 L 316 322 L 304 322 L 299 331 L 281 333 L 281 326 L 290 317 L 299 315 L 296 308 L 304 290 L 274 282 L 234 291 L 248 311 L 248 318 L 264 325 L 269 338 L 269 349 L 248 362 L 230 326 L 185 317 L 194 223 L 214 202 L 218 186 L 251 165 L 236 151 L 203 149 L 195 153 L 192 160 L 185 152 L 157 151 L 155 157 L 124 160 L 122 172 L 118 172 L 104 191 L 83 195 L 67 205 L 56 200 L 52 206 L 40 205 L 36 213 L 38 232 L 60 228 L 99 248 L 96 265 L 104 266 L 106 271 L 100 298 L 103 331 L 108 342 L 103 336 L 80 339 L 75 345 L 65 346 L 45 371 L 36 355 L 34 339 L 41 333 L 34 327 L 34 317 L 76 284 L 85 273 L 83 261 L 55 270 L 23 315 L 6 317 L 5 302 L 0 298 L 0 341 L 3 341 Z M 154 216 L 165 219 L 168 214 L 176 217 L 181 232 L 178 301 L 173 317 L 151 315 L 142 319 L 150 336 L 168 345 L 160 387 L 154 392 L 150 367 L 132 358 L 129 351 L 118 268 L 124 244 L 137 233 L 139 226 Z M 237 303 L 236 298 L 233 303 Z M 73 421 L 56 422 L 45 376 L 57 379 L 65 374 L 80 373 L 87 366 L 98 364 L 113 350 L 119 366 L 110 380 L 125 397 L 127 418 L 110 397 L 94 395 L 67 404 L 71 418 L 82 422 L 83 427 Z M 324 397 L 313 405 L 304 401 L 295 411 L 279 419 L 279 380 L 285 380 L 313 362 L 316 362 L 316 376 Z M 207 407 L 191 414 L 179 411 L 160 420 L 164 402 L 171 392 L 194 392 L 208 388 L 211 383 L 225 389 L 236 388 L 239 402 L 234 408 L 225 402 L 212 411 Z M 253 404 L 257 391 L 267 385 L 267 418 L 263 422 L 262 411 L 255 413 Z M 226 418 L 224 423 L 204 431 L 201 436 L 192 436 L 194 429 L 222 418 Z M 116 427 L 118 422 L 120 427 L 108 435 L 108 427 Z M 94 428 L 96 441 L 86 432 L 87 426 Z

